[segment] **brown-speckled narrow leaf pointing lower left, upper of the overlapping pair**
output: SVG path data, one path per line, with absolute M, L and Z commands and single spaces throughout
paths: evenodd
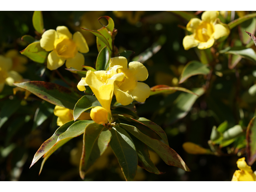
M 32 160 L 30 167 L 32 167 L 44 154 L 46 154 L 46 152 L 48 152 L 52 148 L 52 146 L 54 146 L 54 144 L 56 144 L 60 134 L 65 132 L 73 123 L 74 121 L 69 121 L 69 122 L 66 122 L 64 125 L 60 126 L 55 131 L 55 133 L 40 146 L 40 148 L 37 150 L 36 154 L 34 155 L 34 158 Z

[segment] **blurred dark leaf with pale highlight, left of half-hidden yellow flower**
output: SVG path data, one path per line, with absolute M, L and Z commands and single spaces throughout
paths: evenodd
M 55 105 L 43 101 L 36 109 L 32 130 L 40 126 L 48 117 L 53 114 Z

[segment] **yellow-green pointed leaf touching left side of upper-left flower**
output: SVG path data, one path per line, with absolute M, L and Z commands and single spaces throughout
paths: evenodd
M 44 63 L 46 62 L 48 52 L 40 46 L 40 42 L 34 42 L 29 44 L 24 50 L 20 51 L 22 55 L 27 56 L 34 62 Z

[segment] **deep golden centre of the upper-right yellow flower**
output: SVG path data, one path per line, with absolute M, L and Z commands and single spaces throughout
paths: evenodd
M 203 21 L 195 30 L 195 39 L 200 42 L 207 42 L 214 32 L 214 25 Z

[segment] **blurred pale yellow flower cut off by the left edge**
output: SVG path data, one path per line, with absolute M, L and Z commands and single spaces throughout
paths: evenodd
M 14 82 L 22 80 L 22 76 L 16 71 L 12 71 L 12 60 L 0 55 L 0 92 L 4 89 L 4 84 L 13 86 Z

